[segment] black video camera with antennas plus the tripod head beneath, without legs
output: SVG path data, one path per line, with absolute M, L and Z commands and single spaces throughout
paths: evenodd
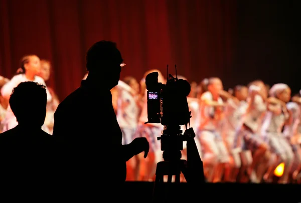
M 176 72 L 177 72 L 177 67 Z M 161 123 L 164 125 L 161 140 L 161 150 L 164 151 L 165 160 L 180 159 L 183 150 L 183 141 L 187 136 L 195 137 L 192 128 L 185 131 L 184 135 L 180 125 L 190 122 L 187 96 L 190 93 L 190 84 L 187 80 L 178 79 L 168 74 L 166 84 L 158 82 L 158 72 L 149 73 L 145 78 L 147 89 L 147 118 L 146 123 Z M 145 123 L 145 124 L 146 124 Z

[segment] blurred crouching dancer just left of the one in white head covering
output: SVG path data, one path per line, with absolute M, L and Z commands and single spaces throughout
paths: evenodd
M 249 160 L 250 157 L 248 156 L 242 156 L 242 161 L 245 164 L 241 167 L 241 181 L 245 181 L 245 172 L 247 172 L 252 182 L 259 182 L 263 172 L 260 170 L 259 174 L 256 174 L 257 166 L 259 163 L 266 163 L 270 158 L 268 145 L 257 134 L 262 115 L 266 112 L 266 95 L 266 89 L 262 81 L 257 80 L 248 85 L 248 107 L 242 118 L 242 125 L 235 136 L 234 147 L 241 148 L 242 154 L 248 154 L 248 151 L 251 151 L 253 160 Z M 246 168 L 250 163 L 251 166 Z

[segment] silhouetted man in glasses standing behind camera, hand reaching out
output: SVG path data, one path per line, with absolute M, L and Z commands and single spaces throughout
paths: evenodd
M 81 86 L 60 103 L 54 114 L 53 136 L 64 145 L 64 176 L 85 188 L 101 186 L 101 196 L 118 198 L 132 156 L 148 153 L 146 138 L 122 145 L 122 133 L 110 90 L 118 84 L 122 58 L 116 44 L 95 43 L 87 52 L 89 74 Z

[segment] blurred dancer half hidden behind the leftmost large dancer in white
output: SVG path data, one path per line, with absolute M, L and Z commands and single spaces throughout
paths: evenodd
M 50 61 L 41 60 L 41 71 L 38 74 L 38 76 L 40 76 L 45 81 L 45 83 L 47 83 L 47 81 L 51 77 L 51 72 L 52 72 L 51 70 L 52 70 L 52 66 Z M 60 101 L 57 94 L 52 88 L 48 86 L 47 89 L 51 94 L 52 100 L 47 103 L 47 114 L 46 114 L 44 126 L 48 128 L 48 133 L 52 135 L 53 124 L 54 124 L 54 112 L 56 111 Z

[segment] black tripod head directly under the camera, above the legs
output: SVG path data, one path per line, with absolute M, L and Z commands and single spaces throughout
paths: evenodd
M 180 125 L 164 126 L 163 134 L 157 139 L 161 141 L 161 150 L 165 161 L 180 160 L 183 141 L 196 136 L 193 128 L 185 130 L 184 134 L 182 132 Z

